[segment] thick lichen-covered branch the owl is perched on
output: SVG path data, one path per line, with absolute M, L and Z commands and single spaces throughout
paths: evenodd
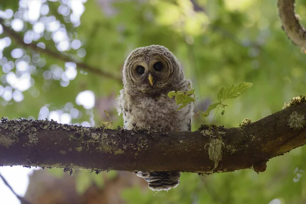
M 225 172 L 253 168 L 306 144 L 305 97 L 240 127 L 195 132 L 104 130 L 47 120 L 0 123 L 0 165 L 122 171 Z

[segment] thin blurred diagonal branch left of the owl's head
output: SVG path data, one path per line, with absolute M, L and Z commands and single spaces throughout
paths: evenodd
M 48 56 L 51 56 L 53 58 L 59 59 L 59 60 L 64 61 L 64 62 L 74 62 L 75 64 L 77 64 L 77 67 L 82 68 L 82 69 L 84 69 L 88 72 L 92 72 L 94 74 L 98 74 L 98 75 L 101 75 L 103 77 L 107 77 L 107 78 L 110 78 L 110 79 L 113 79 L 113 80 L 116 80 L 116 81 L 122 83 L 121 77 L 117 77 L 117 76 L 115 76 L 111 73 L 108 73 L 104 70 L 101 70 L 98 67 L 89 66 L 88 64 L 85 64 L 83 62 L 75 62 L 75 60 L 72 59 L 71 57 L 69 57 L 68 55 L 64 55 L 62 53 L 55 52 L 51 49 L 41 48 L 41 47 L 37 46 L 36 43 L 30 43 L 30 44 L 24 43 L 22 37 L 18 33 L 16 33 L 14 30 L 12 30 L 11 28 L 9 28 L 5 25 L 4 19 L 0 18 L 0 24 L 3 27 L 3 31 L 10 38 L 14 39 L 16 41 L 16 43 L 19 44 L 22 47 L 30 48 L 31 50 L 33 50 L 35 52 L 40 52 L 40 53 L 47 54 Z

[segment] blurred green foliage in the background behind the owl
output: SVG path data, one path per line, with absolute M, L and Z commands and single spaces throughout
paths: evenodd
M 306 4 L 296 2 L 297 12 L 305 16 Z M 221 87 L 252 83 L 247 93 L 227 102 L 226 114 L 217 113 L 214 123 L 218 125 L 238 126 L 244 118 L 256 121 L 281 110 L 292 97 L 305 93 L 306 58 L 282 31 L 276 0 L 89 0 L 84 4 L 79 23 L 71 22 L 73 9 L 67 1 L 42 1 L 43 5 L 47 5 L 48 10 L 41 12 L 36 21 L 23 19 L 23 28 L 17 32 L 21 38 L 33 31 L 38 21 L 58 20 L 69 42 L 68 48 L 62 51 L 64 55 L 118 76 L 133 49 L 164 45 L 181 62 L 196 96 L 201 96 L 196 100 L 200 110 L 206 111 Z M 8 27 L 13 19 L 27 11 L 23 6 L 16 0 L 0 3 L 1 11 L 14 12 L 14 16 L 5 19 Z M 55 32 L 46 29 L 30 43 L 42 42 L 45 49 L 60 53 L 59 42 L 54 40 Z M 3 29 L 0 33 L 0 38 L 7 37 Z M 80 40 L 82 46 L 71 48 L 73 40 Z M 5 91 L 13 94 L 15 90 L 6 77 L 9 72 L 20 77 L 27 71 L 17 70 L 15 65 L 9 70 L 0 69 L 0 116 L 52 118 L 54 111 L 59 118 L 70 114 L 71 123 L 87 121 L 90 125 L 99 125 L 103 120 L 109 121 L 104 113 L 108 111 L 114 126 L 122 125 L 121 116 L 117 116 L 113 106 L 114 97 L 122 88 L 120 81 L 77 68 L 77 76 L 67 84 L 61 75 L 67 70 L 65 62 L 36 53 L 13 38 L 3 49 L 2 67 L 10 61 L 17 64 L 18 59 L 12 57 L 15 48 L 23 49 L 18 59 L 27 61 L 30 57 L 27 63 L 35 69 L 28 70 L 31 86 L 21 91 L 23 99 L 19 102 L 14 97 L 4 96 Z M 48 74 L 52 77 L 46 77 Z M 88 109 L 76 101 L 78 94 L 86 90 L 95 95 L 94 108 Z M 42 107 L 47 107 L 48 111 L 42 111 Z M 77 111 L 77 116 L 72 116 L 72 110 Z M 213 115 L 206 119 L 195 117 L 193 130 L 200 123 L 211 122 Z M 275 198 L 282 203 L 305 203 L 306 180 L 302 176 L 305 160 L 306 147 L 300 147 L 269 161 L 264 173 L 257 174 L 253 170 L 208 176 L 183 173 L 181 184 L 169 192 L 143 192 L 136 187 L 124 190 L 122 197 L 127 203 L 268 203 Z M 89 182 L 84 182 L 89 181 L 87 177 L 83 175 L 77 181 L 79 191 L 88 185 Z M 103 181 L 98 183 L 103 186 Z

